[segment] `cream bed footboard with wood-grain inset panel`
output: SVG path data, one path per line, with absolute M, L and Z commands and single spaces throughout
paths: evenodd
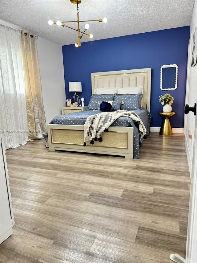
M 82 153 L 110 154 L 133 158 L 133 127 L 109 127 L 102 142 L 87 142 L 84 147 L 83 125 L 48 124 L 49 150 L 64 150 Z

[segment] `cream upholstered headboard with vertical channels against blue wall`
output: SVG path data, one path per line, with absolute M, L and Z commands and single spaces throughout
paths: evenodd
M 143 87 L 142 105 L 150 111 L 151 103 L 151 68 L 91 73 L 92 94 L 96 88 Z

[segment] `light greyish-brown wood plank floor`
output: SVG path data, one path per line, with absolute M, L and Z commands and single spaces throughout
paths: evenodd
M 185 257 L 190 176 L 184 135 L 151 133 L 140 159 L 6 150 L 13 235 L 1 263 L 170 263 Z

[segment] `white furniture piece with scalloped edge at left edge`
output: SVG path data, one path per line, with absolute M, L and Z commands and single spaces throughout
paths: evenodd
M 2 137 L 0 135 L 0 244 L 12 233 L 12 218 L 2 153 Z

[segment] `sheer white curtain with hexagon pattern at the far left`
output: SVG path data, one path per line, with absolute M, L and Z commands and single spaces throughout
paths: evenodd
M 0 25 L 0 130 L 5 147 L 15 148 L 28 139 L 21 31 Z

